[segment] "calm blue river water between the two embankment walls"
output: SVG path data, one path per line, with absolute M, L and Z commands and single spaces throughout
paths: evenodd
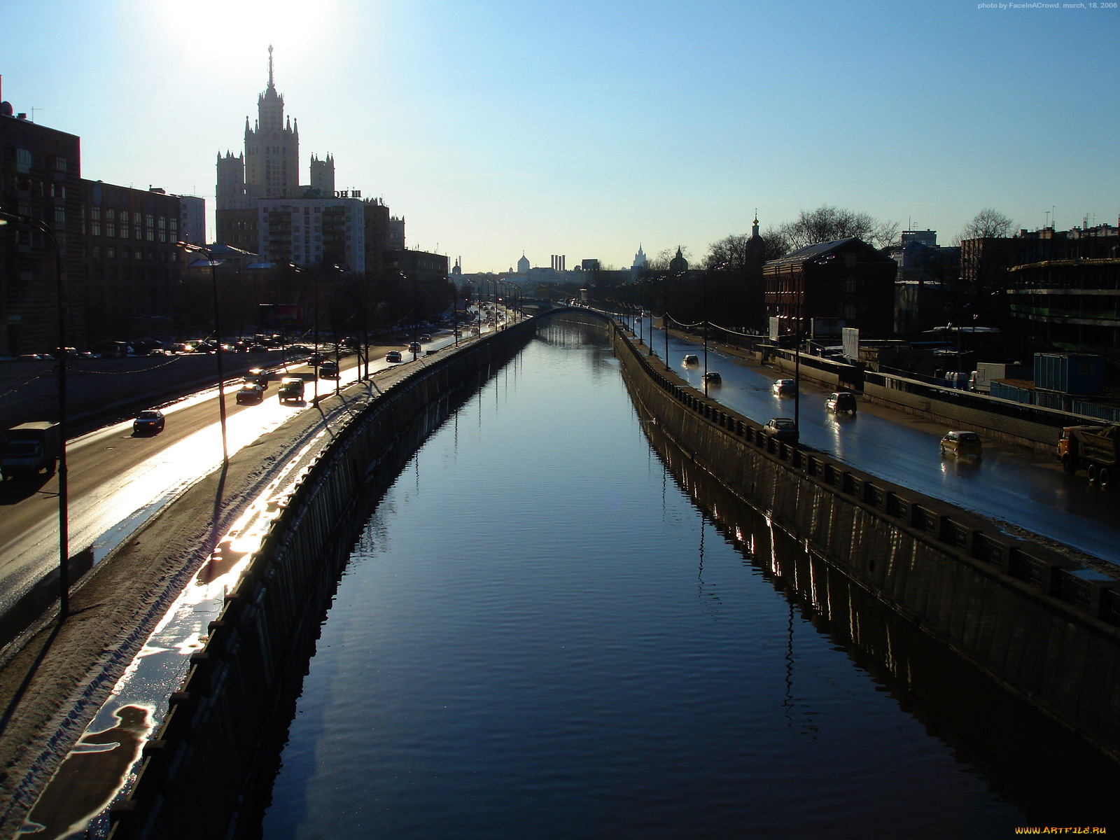
M 1061 773 L 1024 772 L 1017 744 L 1057 762 L 1030 728 L 984 740 L 1023 719 L 992 687 L 858 591 L 853 643 L 785 582 L 809 562 L 795 540 L 734 502 L 698 507 L 682 487 L 702 477 L 664 466 L 595 335 L 541 330 L 380 503 L 309 663 L 265 838 L 1100 824 L 1114 768 L 1086 781 L 1063 746 Z M 1049 787 L 1067 772 L 1080 796 Z

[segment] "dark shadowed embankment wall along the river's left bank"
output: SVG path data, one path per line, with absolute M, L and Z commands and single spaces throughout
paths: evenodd
M 220 840 L 271 785 L 261 756 L 290 717 L 319 622 L 357 532 L 451 411 L 532 337 L 524 321 L 418 368 L 352 420 L 306 470 L 148 741 L 113 840 Z

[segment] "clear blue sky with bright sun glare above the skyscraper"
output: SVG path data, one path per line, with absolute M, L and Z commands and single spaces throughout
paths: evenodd
M 942 244 L 984 207 L 1116 225 L 1120 9 L 1039 6 L 0 0 L 0 93 L 82 138 L 83 177 L 205 197 L 213 235 L 272 45 L 300 183 L 334 155 L 465 272 L 702 258 L 756 208 Z

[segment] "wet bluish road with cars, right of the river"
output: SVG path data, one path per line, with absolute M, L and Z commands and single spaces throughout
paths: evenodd
M 664 333 L 654 329 L 659 357 L 664 346 Z M 697 354 L 700 364 L 684 365 L 688 353 Z M 697 344 L 670 335 L 669 360 L 680 376 L 703 390 Z M 710 345 L 708 367 L 724 379 L 722 385 L 709 386 L 712 399 L 762 423 L 793 417 L 793 398 L 771 390 L 775 379 L 788 374 L 747 366 Z M 950 427 L 862 400 L 856 417 L 833 416 L 824 410 L 828 394 L 802 381 L 804 444 L 895 484 L 1120 563 L 1120 494 L 1090 485 L 1083 475 L 1066 475 L 1056 458 L 989 439 L 980 463 L 942 458 L 940 440 Z

